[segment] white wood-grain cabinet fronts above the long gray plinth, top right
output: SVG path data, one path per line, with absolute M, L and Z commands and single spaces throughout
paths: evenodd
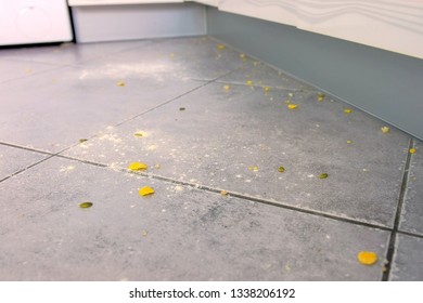
M 219 10 L 423 58 L 420 0 L 220 0 Z

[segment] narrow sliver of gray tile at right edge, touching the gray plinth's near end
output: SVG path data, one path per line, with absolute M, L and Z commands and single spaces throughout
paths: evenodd
M 416 141 L 414 148 L 399 228 L 423 235 L 423 142 Z

